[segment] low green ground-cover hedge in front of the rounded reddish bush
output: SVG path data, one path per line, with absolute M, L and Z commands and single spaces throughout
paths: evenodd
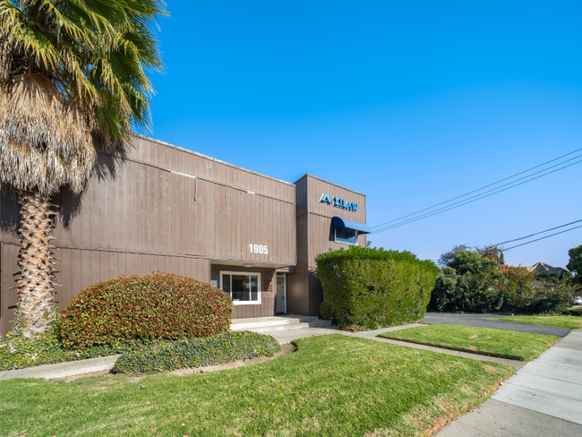
M 233 331 L 210 338 L 191 338 L 133 350 L 117 359 L 112 372 L 161 372 L 205 367 L 257 356 L 274 356 L 280 350 L 278 341 L 269 335 Z

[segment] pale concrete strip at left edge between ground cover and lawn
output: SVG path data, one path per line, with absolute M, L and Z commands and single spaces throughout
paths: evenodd
M 43 364 L 35 367 L 27 367 L 26 369 L 8 370 L 0 372 L 0 381 L 12 380 L 13 378 L 42 378 L 52 380 L 54 378 L 64 378 L 66 376 L 83 373 L 105 372 L 113 368 L 113 364 L 116 364 L 117 358 L 120 356 L 100 356 L 88 360 Z

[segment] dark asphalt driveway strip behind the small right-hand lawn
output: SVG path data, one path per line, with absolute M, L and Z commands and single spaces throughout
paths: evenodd
M 507 314 L 505 314 L 507 316 Z M 457 314 L 457 313 L 426 313 L 419 323 L 427 325 L 464 325 L 478 328 L 492 328 L 493 330 L 517 330 L 532 334 L 555 335 L 564 338 L 571 330 L 552 328 L 550 326 L 537 326 L 528 323 L 516 323 L 515 321 L 494 321 L 503 314 Z

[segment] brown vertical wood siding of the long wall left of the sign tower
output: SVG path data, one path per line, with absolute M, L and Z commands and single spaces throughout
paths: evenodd
M 252 192 L 252 193 L 249 193 Z M 160 270 L 210 281 L 210 260 L 295 265 L 295 185 L 136 138 L 123 158 L 98 153 L 81 196 L 58 193 L 56 300 L 116 276 Z M 0 333 L 16 304 L 18 204 L 0 197 Z M 268 247 L 252 253 L 249 244 Z M 264 308 L 274 307 L 272 291 Z M 269 301 L 271 301 L 269 303 Z M 250 306 L 250 305 L 249 305 Z M 258 312 L 267 312 L 266 309 Z M 271 308 L 272 310 L 272 308 Z M 250 310 L 237 310 L 244 313 Z M 271 311 L 272 313 L 272 311 Z

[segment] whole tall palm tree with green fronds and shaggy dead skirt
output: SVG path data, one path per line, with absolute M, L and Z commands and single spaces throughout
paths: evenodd
M 21 204 L 15 331 L 54 319 L 51 196 L 150 127 L 160 0 L 0 0 L 0 184 Z

